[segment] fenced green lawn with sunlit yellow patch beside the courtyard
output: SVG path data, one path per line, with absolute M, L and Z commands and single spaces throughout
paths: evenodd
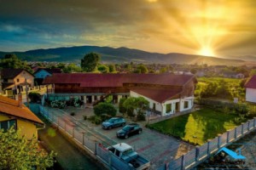
M 204 144 L 218 133 L 224 133 L 237 126 L 234 114 L 224 114 L 211 109 L 201 109 L 188 115 L 149 125 L 160 133 L 176 136 L 194 144 Z

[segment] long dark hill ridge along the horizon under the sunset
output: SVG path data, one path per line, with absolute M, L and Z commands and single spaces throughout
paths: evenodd
M 207 65 L 246 65 L 241 59 L 222 59 L 217 57 L 205 57 L 194 54 L 160 54 L 149 53 L 143 50 L 131 48 L 109 48 L 97 46 L 79 46 L 68 48 L 35 49 L 26 52 L 0 52 L 0 57 L 5 54 L 16 54 L 27 61 L 55 61 L 55 62 L 80 62 L 84 54 L 95 52 L 102 55 L 102 61 L 108 63 L 157 63 L 157 64 L 207 64 Z M 252 62 L 250 62 L 252 63 Z

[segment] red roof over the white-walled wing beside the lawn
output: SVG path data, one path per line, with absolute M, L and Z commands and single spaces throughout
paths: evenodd
M 181 89 L 161 89 L 161 88 L 129 88 L 132 92 L 141 94 L 159 103 L 166 101 L 182 92 Z

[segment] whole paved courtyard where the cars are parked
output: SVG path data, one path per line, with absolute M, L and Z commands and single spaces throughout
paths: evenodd
M 75 120 L 79 127 L 87 128 L 87 130 L 90 127 L 91 133 L 95 133 L 96 137 L 102 139 L 107 146 L 108 144 L 121 142 L 130 144 L 137 153 L 151 161 L 151 169 L 157 169 L 157 167 L 163 166 L 165 162 L 170 162 L 195 147 L 171 136 L 150 130 L 145 127 L 145 122 L 138 122 L 143 128 L 143 133 L 133 135 L 128 139 L 118 139 L 116 132 L 122 127 L 105 130 L 102 129 L 102 125 L 91 124 L 88 120 L 84 121 L 83 116 L 90 116 L 92 113 L 90 108 L 67 108 L 64 111 L 54 110 L 55 114 L 65 116 L 66 118 L 68 116 L 70 119 Z M 69 116 L 71 111 L 75 112 L 75 116 Z M 127 120 L 127 123 L 129 122 L 131 121 Z

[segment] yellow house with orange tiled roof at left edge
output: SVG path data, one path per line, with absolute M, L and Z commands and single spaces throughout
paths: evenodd
M 13 125 L 26 139 L 32 139 L 33 135 L 38 138 L 38 128 L 44 127 L 44 122 L 23 105 L 21 99 L 0 96 L 0 129 L 7 130 Z

